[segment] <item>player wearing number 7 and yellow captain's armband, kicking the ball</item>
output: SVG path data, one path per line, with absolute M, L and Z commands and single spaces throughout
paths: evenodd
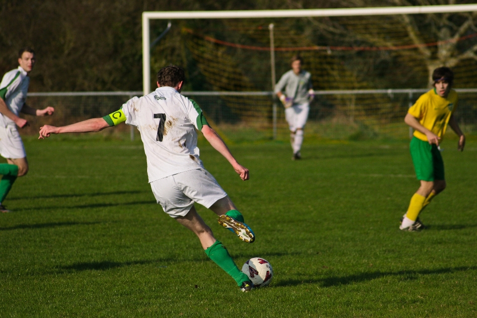
M 180 94 L 184 79 L 184 71 L 179 67 L 162 68 L 158 73 L 158 88 L 151 94 L 134 97 L 103 118 L 65 127 L 45 125 L 39 138 L 50 134 L 97 132 L 123 121 L 138 127 L 148 162 L 149 182 L 157 202 L 165 213 L 194 232 L 207 256 L 235 279 L 241 291 L 247 292 L 253 284 L 194 208 L 194 202 L 210 208 L 219 215 L 219 224 L 235 232 L 241 240 L 254 241 L 253 232 L 243 223 L 243 216 L 232 200 L 204 169 L 199 159 L 196 129 L 232 164 L 242 180 L 248 180 L 248 169 L 232 156 L 197 103 Z

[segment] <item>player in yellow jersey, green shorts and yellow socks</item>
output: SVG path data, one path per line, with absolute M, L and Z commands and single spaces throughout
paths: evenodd
M 459 135 L 460 151 L 464 150 L 466 143 L 454 116 L 458 102 L 457 92 L 452 89 L 454 73 L 446 67 L 437 68 L 432 79 L 434 88 L 422 94 L 404 118 L 404 122 L 415 130 L 409 148 L 421 186 L 412 196 L 409 208 L 402 217 L 399 229 L 403 231 L 422 230 L 424 225 L 418 219 L 419 213 L 446 188 L 439 143 L 447 125 Z

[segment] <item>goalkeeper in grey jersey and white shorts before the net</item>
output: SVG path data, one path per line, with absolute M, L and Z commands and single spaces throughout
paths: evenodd
M 290 60 L 292 69 L 285 73 L 275 85 L 275 93 L 285 106 L 285 119 L 290 127 L 292 160 L 301 159 L 303 128 L 308 119 L 310 102 L 315 97 L 312 75 L 302 70 L 303 59 L 295 55 Z M 284 92 L 283 92 L 284 91 Z

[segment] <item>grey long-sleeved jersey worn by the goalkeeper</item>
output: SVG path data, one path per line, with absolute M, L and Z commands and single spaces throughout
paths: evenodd
M 308 90 L 313 88 L 312 75 L 307 71 L 302 71 L 296 75 L 293 70 L 282 75 L 282 78 L 275 85 L 275 93 L 285 90 L 287 97 L 293 98 L 293 103 L 302 104 L 308 102 Z

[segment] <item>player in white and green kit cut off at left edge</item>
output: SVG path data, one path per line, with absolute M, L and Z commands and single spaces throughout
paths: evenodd
M 25 103 L 30 78 L 28 74 L 35 65 L 35 52 L 23 48 L 18 52 L 17 69 L 6 73 L 0 82 L 0 156 L 8 163 L 0 163 L 0 211 L 9 212 L 2 202 L 17 177 L 28 172 L 25 148 L 16 126 L 23 128 L 28 122 L 18 117 L 20 112 L 29 115 L 52 115 L 55 109 L 35 109 Z

